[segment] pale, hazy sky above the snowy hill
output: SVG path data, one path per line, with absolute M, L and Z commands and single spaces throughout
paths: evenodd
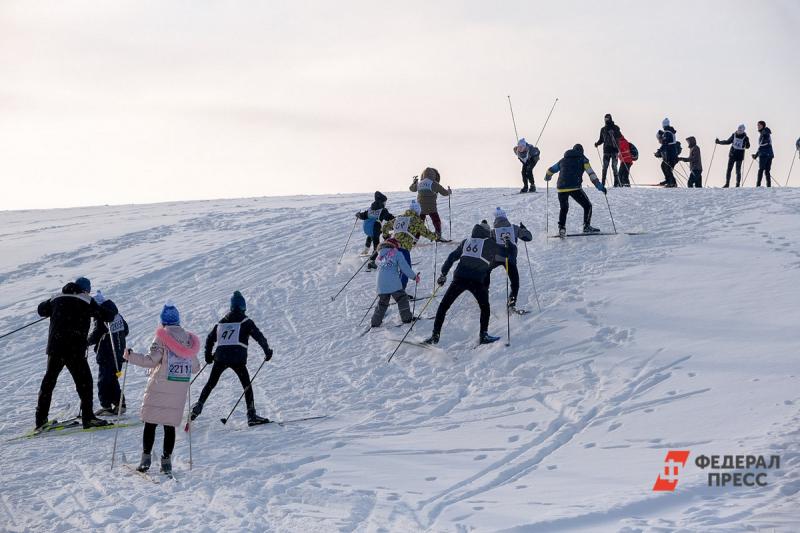
M 531 142 L 559 98 L 537 185 L 576 142 L 600 166 L 609 112 L 638 182 L 668 116 L 706 168 L 766 120 L 783 183 L 798 50 L 797 0 L 2 0 L 0 209 L 405 190 L 425 166 L 519 187 L 509 94 Z

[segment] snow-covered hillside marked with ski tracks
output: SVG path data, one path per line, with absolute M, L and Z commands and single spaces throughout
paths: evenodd
M 358 336 L 374 274 L 330 298 L 360 264 L 360 228 L 336 262 L 371 194 L 0 213 L 0 333 L 36 319 L 36 304 L 78 275 L 117 302 L 137 349 L 166 299 L 205 335 L 238 289 L 275 348 L 256 380 L 261 414 L 328 415 L 247 428 L 240 406 L 223 426 L 241 393 L 227 373 L 195 426 L 194 468 L 179 431 L 178 480 L 161 485 L 109 470 L 113 431 L 7 442 L 33 425 L 38 324 L 0 340 L 0 530 L 800 530 L 800 190 L 613 190 L 617 229 L 646 233 L 566 241 L 544 235 L 543 192 L 510 192 L 457 191 L 453 238 L 496 206 L 523 221 L 542 313 L 511 317 L 510 348 L 476 349 L 478 310 L 464 295 L 438 349 L 404 345 L 390 364 L 404 332 L 394 308 Z M 594 225 L 612 230 L 589 194 Z M 398 212 L 411 195 L 389 197 Z M 551 233 L 556 210 L 551 194 Z M 571 229 L 579 215 L 573 205 Z M 452 248 L 438 248 L 438 265 Z M 413 253 L 423 295 L 435 250 Z M 520 306 L 535 311 L 520 257 Z M 251 374 L 260 361 L 251 348 Z M 145 379 L 129 371 L 134 417 Z M 51 415 L 77 407 L 64 372 Z M 141 428 L 119 437 L 138 460 Z M 676 449 L 690 451 L 677 489 L 653 492 Z M 781 468 L 766 487 L 708 487 L 695 459 L 736 454 L 779 455 Z

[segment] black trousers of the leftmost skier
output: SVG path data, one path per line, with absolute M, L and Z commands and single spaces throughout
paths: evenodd
M 83 422 L 88 422 L 94 418 L 92 407 L 92 371 L 89 369 L 89 362 L 86 360 L 85 353 L 69 355 L 48 354 L 47 370 L 44 372 L 42 384 L 39 387 L 39 401 L 36 405 L 36 427 L 47 422 L 50 414 L 50 402 L 53 398 L 53 390 L 56 388 L 58 376 L 67 367 L 72 380 L 75 382 L 75 390 L 81 399 L 81 418 Z

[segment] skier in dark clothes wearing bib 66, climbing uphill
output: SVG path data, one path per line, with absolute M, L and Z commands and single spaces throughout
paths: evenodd
M 489 285 L 486 278 L 492 269 L 492 263 L 499 250 L 491 238 L 488 225 L 476 224 L 472 228 L 472 237 L 464 239 L 458 248 L 453 250 L 442 265 L 442 274 L 436 280 L 439 286 L 447 282 L 447 273 L 453 264 L 458 261 L 453 282 L 444 293 L 439 308 L 436 310 L 436 319 L 433 322 L 433 333 L 425 340 L 426 344 L 437 344 L 442 331 L 444 319 L 450 306 L 461 293 L 468 291 L 478 301 L 481 310 L 480 333 L 478 336 L 481 344 L 495 342 L 500 337 L 489 335 Z

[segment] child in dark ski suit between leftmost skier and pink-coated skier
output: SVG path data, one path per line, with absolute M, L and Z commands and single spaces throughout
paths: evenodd
M 125 338 L 130 333 L 128 323 L 119 313 L 116 304 L 110 298 L 105 298 L 103 293 L 97 291 L 94 300 L 102 309 L 114 316 L 106 324 L 95 319 L 94 329 L 89 333 L 88 344 L 94 346 L 97 360 L 97 399 L 100 409 L 95 412 L 97 416 L 111 416 L 127 410 L 125 398 L 120 402 L 119 371 L 122 368 L 122 354 L 125 352 Z M 120 405 L 122 403 L 122 405 Z

